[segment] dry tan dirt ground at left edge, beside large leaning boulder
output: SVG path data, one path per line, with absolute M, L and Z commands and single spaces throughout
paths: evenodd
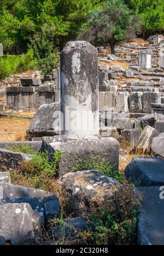
M 30 119 L 0 118 L 0 141 L 25 141 Z

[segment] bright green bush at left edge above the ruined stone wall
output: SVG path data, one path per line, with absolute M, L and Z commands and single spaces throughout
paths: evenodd
M 0 79 L 22 71 L 34 70 L 36 67 L 37 60 L 33 57 L 32 49 L 22 55 L 6 55 L 0 57 Z

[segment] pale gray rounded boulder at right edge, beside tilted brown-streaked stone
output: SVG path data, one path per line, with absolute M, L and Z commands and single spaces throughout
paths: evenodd
M 160 133 L 159 136 L 153 138 L 151 150 L 155 154 L 164 157 L 164 132 Z

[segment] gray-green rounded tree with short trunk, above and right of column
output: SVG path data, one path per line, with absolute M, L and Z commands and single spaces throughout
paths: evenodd
M 106 1 L 91 10 L 81 35 L 93 43 L 109 43 L 112 53 L 116 42 L 125 40 L 133 15 L 122 0 Z

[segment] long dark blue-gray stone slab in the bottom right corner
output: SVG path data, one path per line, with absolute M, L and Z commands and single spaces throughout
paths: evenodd
M 142 207 L 138 215 L 138 244 L 164 244 L 164 200 L 160 199 L 160 187 L 137 187 L 142 193 Z

